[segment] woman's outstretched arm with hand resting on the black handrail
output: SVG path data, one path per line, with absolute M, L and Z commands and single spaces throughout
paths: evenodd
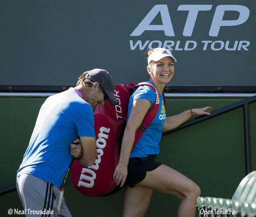
M 210 115 L 212 107 L 206 106 L 204 108 L 192 109 L 193 116 L 195 115 Z M 165 120 L 163 132 L 172 130 L 183 124 L 186 120 L 192 117 L 191 110 L 186 110 L 178 115 L 169 116 Z

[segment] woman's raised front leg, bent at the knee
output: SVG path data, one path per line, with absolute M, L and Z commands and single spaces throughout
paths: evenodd
M 147 172 L 137 186 L 180 197 L 178 217 L 194 217 L 196 214 L 196 198 L 201 194 L 199 186 L 169 166 L 161 165 Z

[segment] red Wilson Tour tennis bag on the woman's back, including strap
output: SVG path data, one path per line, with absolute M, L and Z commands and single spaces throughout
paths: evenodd
M 129 98 L 134 89 L 140 85 L 153 88 L 156 92 L 156 100 L 136 132 L 134 145 L 157 114 L 159 95 L 152 84 L 141 82 L 137 85 L 132 83 L 129 85 L 115 85 L 115 97 L 119 101 L 118 105 L 114 106 L 106 102 L 103 106 L 97 105 L 94 109 L 94 128 L 98 154 L 94 165 L 81 166 L 78 160 L 75 160 L 71 168 L 73 185 L 80 193 L 97 197 L 107 196 L 121 189 L 120 186 L 116 186 L 113 174 L 119 161 Z

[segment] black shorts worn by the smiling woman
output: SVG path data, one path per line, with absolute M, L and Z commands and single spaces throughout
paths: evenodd
M 154 161 L 154 155 L 149 155 L 144 158 L 130 158 L 125 185 L 129 185 L 133 188 L 136 184 L 145 179 L 147 171 L 153 171 L 160 165 L 161 163 Z

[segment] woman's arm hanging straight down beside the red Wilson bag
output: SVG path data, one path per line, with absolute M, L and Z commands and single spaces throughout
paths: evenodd
M 152 102 L 146 99 L 137 99 L 133 101 L 131 113 L 123 135 L 119 163 L 113 175 L 113 179 L 115 180 L 116 185 L 120 184 L 122 187 L 125 183 L 127 176 L 127 165 L 129 162 L 131 150 L 133 148 L 135 133 L 141 125 L 151 105 Z

